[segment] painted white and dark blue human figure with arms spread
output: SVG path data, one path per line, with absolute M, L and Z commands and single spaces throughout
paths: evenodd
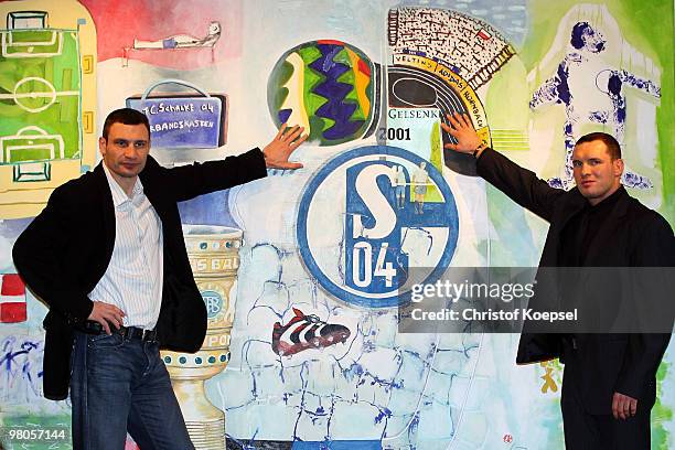
M 548 183 L 553 188 L 570 189 L 574 185 L 571 154 L 582 122 L 612 127 L 614 137 L 623 143 L 624 85 L 661 97 L 661 88 L 654 82 L 639 78 L 625 69 L 608 67 L 598 56 L 607 49 L 606 44 L 602 33 L 588 22 L 577 22 L 571 30 L 572 49 L 558 65 L 556 74 L 535 90 L 529 101 L 532 109 L 551 103 L 565 105 L 565 176 L 550 179 Z M 652 188 L 647 178 L 628 170 L 622 182 L 630 188 Z

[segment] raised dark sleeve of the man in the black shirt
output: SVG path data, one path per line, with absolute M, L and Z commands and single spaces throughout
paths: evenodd
M 550 222 L 556 200 L 565 194 L 493 149 L 485 149 L 478 162 L 478 174 L 518 205 Z

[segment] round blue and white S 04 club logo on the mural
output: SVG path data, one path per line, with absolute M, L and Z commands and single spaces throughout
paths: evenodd
M 298 244 L 306 267 L 346 302 L 389 308 L 410 268 L 432 283 L 457 247 L 454 197 L 429 161 L 397 147 L 372 146 L 330 160 L 304 188 Z

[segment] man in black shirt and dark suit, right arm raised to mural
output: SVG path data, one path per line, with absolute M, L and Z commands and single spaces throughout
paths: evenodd
M 533 172 L 486 148 L 465 115 L 448 116 L 448 120 L 442 128 L 458 143 L 446 148 L 472 154 L 479 175 L 549 222 L 540 268 L 675 266 L 675 238 L 668 223 L 621 185 L 623 161 L 613 137 L 597 132 L 577 141 L 572 156 L 577 186 L 567 192 L 550 188 Z M 612 281 L 619 286 L 622 280 Z M 612 292 L 621 296 L 615 286 L 570 289 L 582 292 L 589 288 L 614 289 Z M 583 298 L 593 300 L 592 296 Z M 661 300 L 668 302 L 667 298 Z M 672 322 L 666 328 L 672 330 Z M 523 333 L 516 362 L 559 357 L 565 363 L 561 410 L 567 448 L 649 449 L 655 375 L 671 334 L 598 331 Z

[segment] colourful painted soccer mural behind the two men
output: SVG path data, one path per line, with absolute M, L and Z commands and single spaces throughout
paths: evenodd
M 11 247 L 128 105 L 167 167 L 285 121 L 310 135 L 303 169 L 181 205 L 210 331 L 163 358 L 199 448 L 562 448 L 557 362 L 515 366 L 513 334 L 399 332 L 397 287 L 416 267 L 432 282 L 538 260 L 546 224 L 443 152 L 449 113 L 560 189 L 575 139 L 611 132 L 631 194 L 675 223 L 672 2 L 17 0 L 0 15 L 2 425 L 69 427 L 67 400 L 41 395 L 46 309 Z M 671 354 L 655 448 L 673 444 Z

